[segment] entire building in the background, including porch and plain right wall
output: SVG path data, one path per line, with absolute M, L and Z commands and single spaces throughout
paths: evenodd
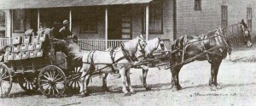
M 6 12 L 6 37 L 69 20 L 82 48 L 104 50 L 141 34 L 147 40 L 160 36 L 169 46 L 178 36 L 198 36 L 241 19 L 255 37 L 255 4 L 254 0 L 1 0 L 0 9 Z M 8 39 L 0 38 L 0 47 L 4 41 Z

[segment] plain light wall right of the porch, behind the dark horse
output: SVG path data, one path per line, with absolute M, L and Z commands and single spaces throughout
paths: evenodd
M 221 6 L 228 7 L 228 25 L 244 19 L 247 8 L 252 8 L 252 36 L 256 39 L 256 1 L 254 0 L 202 0 L 201 10 L 195 11 L 195 0 L 177 1 L 177 36 L 201 35 L 221 26 Z

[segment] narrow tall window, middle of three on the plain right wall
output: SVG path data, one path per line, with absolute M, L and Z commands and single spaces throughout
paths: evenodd
M 221 6 L 221 27 L 228 26 L 228 6 Z

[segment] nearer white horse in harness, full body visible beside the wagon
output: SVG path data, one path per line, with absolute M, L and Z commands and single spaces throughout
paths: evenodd
M 79 82 L 81 97 L 89 94 L 87 86 L 91 75 L 113 73 L 113 71 L 116 70 L 118 70 L 121 75 L 123 81 L 122 91 L 125 93 L 125 96 L 135 93 L 131 87 L 130 79 L 131 59 L 136 58 L 135 53 L 137 53 L 137 50 L 142 51 L 141 49 L 146 47 L 146 44 L 147 43 L 143 40 L 143 36 L 137 36 L 137 38 L 125 42 L 119 50 L 81 52 L 78 49 L 73 49 L 71 53 L 73 53 L 76 58 L 82 58 L 83 61 L 83 73 Z M 126 80 L 130 92 L 125 86 Z

